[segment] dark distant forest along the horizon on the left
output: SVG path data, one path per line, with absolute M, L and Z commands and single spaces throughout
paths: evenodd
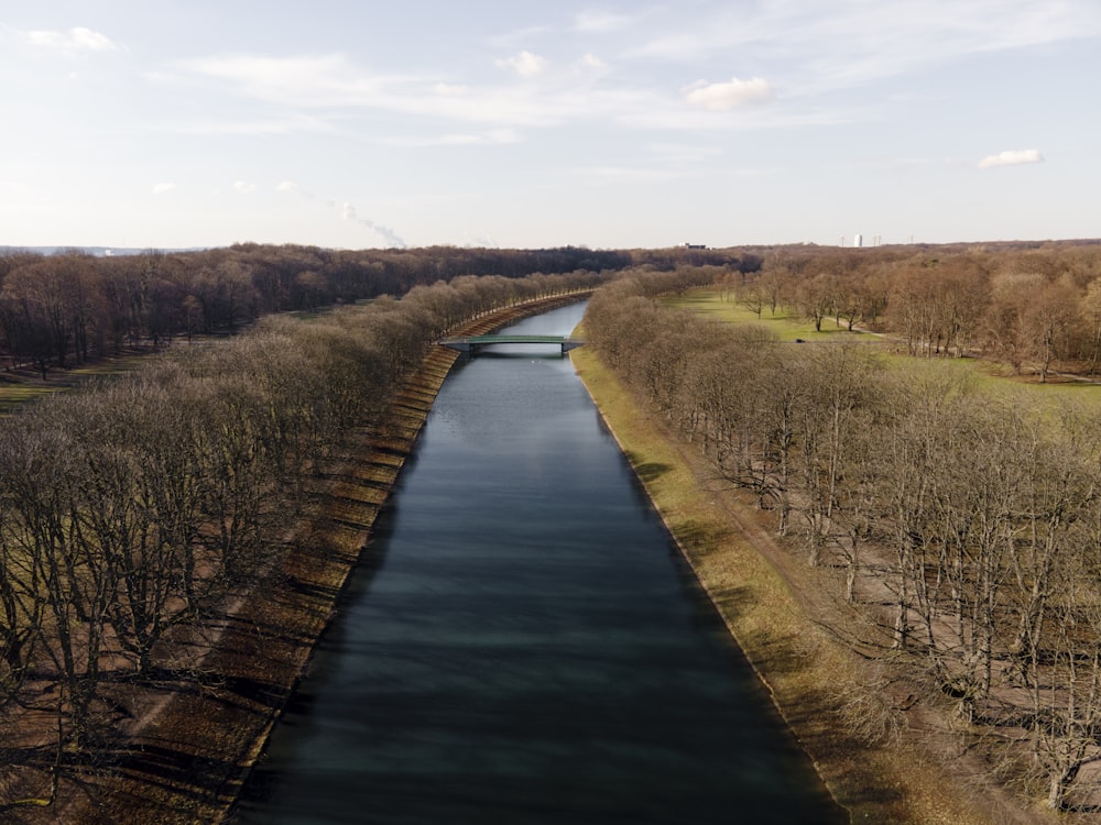
M 400 296 L 462 275 L 520 278 L 685 263 L 752 270 L 760 262 L 737 251 L 576 246 L 337 251 L 239 244 L 110 257 L 10 251 L 0 255 L 0 358 L 45 373 L 124 346 L 232 333 L 273 312 Z

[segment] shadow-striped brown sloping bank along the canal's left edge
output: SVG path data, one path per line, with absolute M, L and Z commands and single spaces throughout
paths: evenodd
M 574 293 L 509 307 L 464 324 L 481 334 L 558 306 Z M 119 743 L 111 771 L 89 771 L 63 809 L 6 811 L 17 823 L 219 823 L 232 807 L 268 737 L 309 668 L 350 574 L 370 564 L 369 539 L 459 353 L 433 348 L 395 396 L 385 421 L 352 433 L 308 482 L 316 501 L 287 552 L 243 601 L 183 640 L 179 667 L 141 700 L 145 708 Z M 197 658 L 195 649 L 204 649 Z M 186 662 L 186 663 L 185 663 Z

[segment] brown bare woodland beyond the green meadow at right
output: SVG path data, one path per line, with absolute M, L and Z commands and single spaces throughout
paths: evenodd
M 859 324 L 909 354 L 982 355 L 1046 381 L 1101 363 L 1101 244 L 777 248 L 734 283 L 751 311 Z

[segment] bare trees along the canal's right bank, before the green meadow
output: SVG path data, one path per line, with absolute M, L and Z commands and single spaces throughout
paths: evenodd
M 637 273 L 599 290 L 590 346 L 859 608 L 836 628 L 876 662 L 841 703 L 853 730 L 897 732 L 903 712 L 882 689 L 916 678 L 1006 781 L 1057 810 L 1088 801 L 1101 760 L 1101 417 L 982 391 L 926 359 L 887 365 L 866 345 L 785 343 L 673 309 L 657 298 L 673 283 Z

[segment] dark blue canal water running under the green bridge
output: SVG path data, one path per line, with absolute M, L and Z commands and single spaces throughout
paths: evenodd
M 237 822 L 847 821 L 556 349 L 459 362 L 370 553 Z

